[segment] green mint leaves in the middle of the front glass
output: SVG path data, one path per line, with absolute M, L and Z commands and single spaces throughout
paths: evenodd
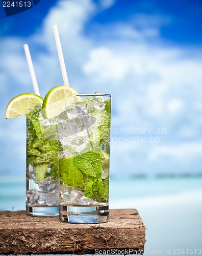
M 60 180 L 77 189 L 84 189 L 85 197 L 97 202 L 108 201 L 109 177 L 102 179 L 104 155 L 101 150 L 86 152 L 59 160 Z

